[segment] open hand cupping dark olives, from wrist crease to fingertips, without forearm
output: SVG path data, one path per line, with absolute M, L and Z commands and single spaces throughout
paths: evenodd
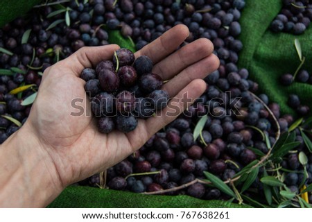
M 176 99 L 182 98 L 185 92 L 192 101 L 200 96 L 206 89 L 201 78 L 217 69 L 219 64 L 218 58 L 212 54 L 213 45 L 209 40 L 196 40 L 175 51 L 188 35 L 186 26 L 175 26 L 135 53 L 136 58 L 142 55 L 150 57 L 154 62 L 153 72 L 164 80 L 170 79 L 163 89 L 175 98 L 169 104 L 175 103 L 180 112 L 191 104 Z M 118 130 L 108 135 L 98 133 L 96 121 L 92 115 L 87 115 L 89 103 L 85 96 L 85 81 L 79 76 L 86 67 L 94 67 L 101 60 L 110 60 L 118 48 L 114 44 L 85 47 L 44 72 L 26 125 L 31 126 L 42 149 L 49 154 L 62 187 L 123 160 L 177 117 L 164 114 L 169 109 L 168 105 L 162 110 L 162 115 L 139 119 L 137 128 L 130 133 Z M 78 112 L 71 104 L 73 99 L 83 99 L 80 106 L 84 108 L 84 114 L 78 117 L 71 114 Z

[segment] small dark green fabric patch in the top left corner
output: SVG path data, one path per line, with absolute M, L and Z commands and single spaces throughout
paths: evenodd
M 24 15 L 41 0 L 0 1 L 0 27 L 20 15 Z

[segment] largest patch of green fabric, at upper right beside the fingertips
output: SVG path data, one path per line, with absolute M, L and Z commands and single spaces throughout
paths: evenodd
M 281 0 L 246 0 L 240 21 L 244 48 L 239 55 L 239 67 L 250 71 L 250 78 L 259 83 L 259 92 L 266 93 L 270 101 L 279 103 L 284 114 L 293 114 L 294 110 L 287 105 L 288 94 L 299 95 L 302 104 L 312 108 L 312 85 L 296 81 L 285 87 L 280 85 L 279 77 L 286 73 L 294 74 L 300 65 L 295 38 L 300 40 L 302 55 L 306 57 L 302 69 L 312 74 L 312 29 L 307 29 L 304 35 L 272 33 L 268 27 L 281 6 Z

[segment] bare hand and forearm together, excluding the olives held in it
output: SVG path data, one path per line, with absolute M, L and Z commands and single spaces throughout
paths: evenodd
M 162 115 L 139 119 L 130 133 L 98 133 L 92 116 L 74 117 L 75 98 L 85 99 L 81 71 L 110 60 L 119 46 L 84 47 L 44 71 L 37 99 L 26 123 L 0 147 L 0 207 L 45 207 L 73 182 L 104 171 L 139 149 L 148 138 L 173 121 L 206 89 L 202 80 L 216 70 L 213 44 L 199 39 L 175 51 L 189 35 L 177 25 L 135 53 L 149 56 L 153 72 L 168 80 L 163 89 L 171 98 Z M 181 100 L 187 92 L 188 103 Z M 165 115 L 172 105 L 175 115 Z M 89 104 L 85 101 L 85 110 Z

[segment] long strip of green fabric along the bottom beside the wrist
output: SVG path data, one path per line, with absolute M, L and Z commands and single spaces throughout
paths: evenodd
M 200 207 L 248 207 L 221 200 L 200 200 L 190 196 L 151 196 L 126 191 L 92 187 L 67 187 L 49 207 L 107 207 L 107 208 L 200 208 Z

